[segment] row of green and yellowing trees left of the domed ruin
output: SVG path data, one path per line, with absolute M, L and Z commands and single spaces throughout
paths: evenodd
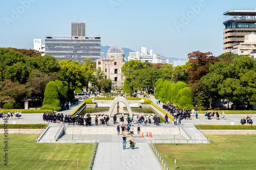
M 111 89 L 111 80 L 105 79 L 89 58 L 84 64 L 69 60 L 57 62 L 55 57 L 40 56 L 34 50 L 0 48 L 1 108 L 4 105 L 23 108 L 26 96 L 42 104 L 47 84 L 56 80 L 67 81 L 72 91 L 88 88 L 89 82 L 105 91 Z

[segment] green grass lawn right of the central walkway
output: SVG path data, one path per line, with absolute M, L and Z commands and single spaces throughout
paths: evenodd
M 155 146 L 170 169 L 255 169 L 256 135 L 209 135 L 213 144 Z

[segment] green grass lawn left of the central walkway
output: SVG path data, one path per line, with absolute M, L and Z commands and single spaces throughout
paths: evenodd
M 8 169 L 87 169 L 94 143 L 33 143 L 36 135 L 9 134 Z M 1 141 L 4 135 L 1 134 Z M 4 169 L 4 142 L 0 142 Z

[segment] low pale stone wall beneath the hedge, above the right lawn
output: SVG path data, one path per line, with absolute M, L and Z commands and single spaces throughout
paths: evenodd
M 256 135 L 256 130 L 202 130 L 206 135 Z

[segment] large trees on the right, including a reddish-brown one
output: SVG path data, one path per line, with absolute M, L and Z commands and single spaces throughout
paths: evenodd
M 174 69 L 174 82 L 183 81 L 193 92 L 199 107 L 213 107 L 215 101 L 227 99 L 236 109 L 256 104 L 256 62 L 248 56 L 222 54 L 212 56 L 199 51 L 188 54 L 186 65 Z

